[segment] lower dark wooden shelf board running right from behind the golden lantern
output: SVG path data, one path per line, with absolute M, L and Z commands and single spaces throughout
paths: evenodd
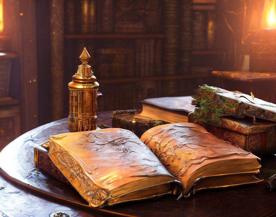
M 148 80 L 178 80 L 178 79 L 192 79 L 192 78 L 205 78 L 206 73 L 195 75 L 167 75 L 167 76 L 149 76 L 149 77 L 124 77 L 124 78 L 104 78 L 97 79 L 99 84 L 116 84 L 116 83 L 134 83 L 139 81 Z

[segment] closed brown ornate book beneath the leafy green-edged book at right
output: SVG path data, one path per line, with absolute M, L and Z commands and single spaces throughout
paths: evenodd
M 271 154 L 276 152 L 275 126 L 276 123 L 253 118 L 221 117 L 216 124 L 206 124 L 189 114 L 189 122 L 204 127 L 218 138 L 253 154 Z

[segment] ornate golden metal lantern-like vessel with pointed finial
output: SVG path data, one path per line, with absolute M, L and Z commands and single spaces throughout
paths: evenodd
M 68 84 L 69 89 L 69 116 L 68 129 L 71 132 L 96 129 L 97 91 L 99 84 L 87 63 L 90 59 L 86 48 L 83 49 L 79 59 L 77 73 Z

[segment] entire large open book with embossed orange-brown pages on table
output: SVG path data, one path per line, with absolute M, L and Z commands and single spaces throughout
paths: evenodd
M 49 138 L 51 160 L 93 207 L 261 181 L 258 157 L 192 123 L 154 127 L 144 143 L 118 128 Z

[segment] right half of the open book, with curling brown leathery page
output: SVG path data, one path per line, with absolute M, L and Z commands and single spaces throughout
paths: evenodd
M 260 182 L 260 160 L 250 152 L 224 142 L 193 123 L 156 126 L 143 141 L 166 169 L 182 182 L 184 195 L 191 189 L 235 186 Z

